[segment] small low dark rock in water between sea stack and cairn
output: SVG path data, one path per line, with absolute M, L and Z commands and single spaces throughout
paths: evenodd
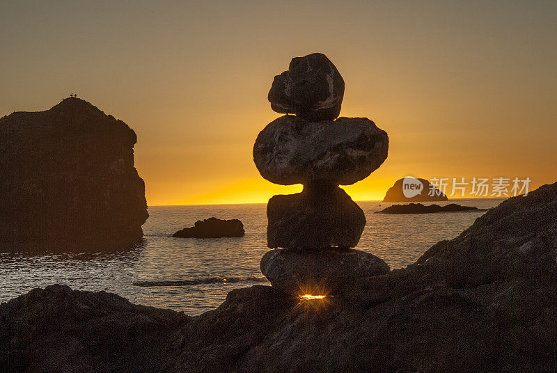
M 184 228 L 175 232 L 172 237 L 183 238 L 218 238 L 218 237 L 242 237 L 245 235 L 244 224 L 238 219 L 221 220 L 209 218 L 196 221 L 191 228 Z

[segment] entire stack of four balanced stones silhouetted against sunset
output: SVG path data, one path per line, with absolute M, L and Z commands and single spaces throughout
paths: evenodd
M 261 271 L 273 287 L 297 295 L 342 294 L 355 278 L 389 273 L 375 255 L 353 249 L 366 216 L 339 185 L 363 180 L 387 157 L 389 137 L 368 118 L 337 118 L 344 80 L 324 54 L 292 58 L 274 77 L 271 108 L 285 113 L 253 146 L 260 174 L 301 193 L 267 204 L 268 251 Z

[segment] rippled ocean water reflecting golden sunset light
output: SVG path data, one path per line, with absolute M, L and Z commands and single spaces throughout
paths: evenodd
M 500 199 L 450 200 L 480 208 Z M 447 203 L 439 203 L 445 205 Z M 368 221 L 357 248 L 381 257 L 391 269 L 414 262 L 441 239 L 451 239 L 485 212 L 374 214 L 392 203 L 359 202 Z M 54 283 L 114 292 L 133 303 L 198 315 L 217 307 L 236 287 L 269 285 L 259 270 L 266 248 L 266 204 L 149 207 L 145 237 L 117 253 L 0 253 L 0 301 Z M 196 220 L 240 219 L 241 238 L 170 237 Z

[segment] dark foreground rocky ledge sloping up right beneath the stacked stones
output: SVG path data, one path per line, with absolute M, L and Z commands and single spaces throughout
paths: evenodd
M 7 372 L 554 372 L 557 184 L 415 264 L 300 301 L 268 286 L 198 317 L 62 285 L 0 305 Z

